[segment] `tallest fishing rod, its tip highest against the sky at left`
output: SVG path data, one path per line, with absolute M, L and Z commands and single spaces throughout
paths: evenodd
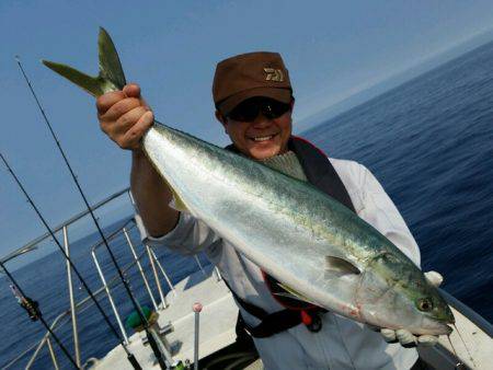
M 33 86 L 32 86 L 32 84 L 31 84 L 30 79 L 27 78 L 27 74 L 26 74 L 25 71 L 24 71 L 24 68 L 22 67 L 20 57 L 16 56 L 16 57 L 15 57 L 15 60 L 16 60 L 16 62 L 18 62 L 18 65 L 19 65 L 19 68 L 20 68 L 20 70 L 21 70 L 21 72 L 22 72 L 22 76 L 24 77 L 25 82 L 27 83 L 27 85 L 28 85 L 28 88 L 30 88 L 30 90 L 31 90 L 31 93 L 33 94 L 34 100 L 36 101 L 36 105 L 37 105 L 37 107 L 39 108 L 39 111 L 41 111 L 41 113 L 42 113 L 42 115 L 43 115 L 43 118 L 44 118 L 44 120 L 45 120 L 45 124 L 46 124 L 46 126 L 48 127 L 49 132 L 51 134 L 51 137 L 53 137 L 53 139 L 55 140 L 55 142 L 56 142 L 56 144 L 57 144 L 57 147 L 58 147 L 58 150 L 59 150 L 61 157 L 64 158 L 65 164 L 67 165 L 67 169 L 68 169 L 69 172 L 70 172 L 70 175 L 71 175 L 71 177 L 72 177 L 72 180 L 73 180 L 73 183 L 76 184 L 76 187 L 77 187 L 77 189 L 78 189 L 80 196 L 82 197 L 82 199 L 83 199 L 83 201 L 84 201 L 84 204 L 85 204 L 85 207 L 88 208 L 89 213 L 91 215 L 91 218 L 92 218 L 92 220 L 93 220 L 93 222 L 94 222 L 94 226 L 96 227 L 98 232 L 99 232 L 101 239 L 103 240 L 103 244 L 104 244 L 104 246 L 106 247 L 107 253 L 110 254 L 110 257 L 111 257 L 111 259 L 112 259 L 112 262 L 113 262 L 113 265 L 115 266 L 116 271 L 118 273 L 118 276 L 119 276 L 119 278 L 121 278 L 121 280 L 122 280 L 123 286 L 125 287 L 125 290 L 126 290 L 128 297 L 130 298 L 131 304 L 134 305 L 135 311 L 136 311 L 137 314 L 139 315 L 140 322 L 142 323 L 144 328 L 145 328 L 145 331 L 146 331 L 146 335 L 147 335 L 147 337 L 148 337 L 149 345 L 151 346 L 152 351 L 154 352 L 154 356 L 156 356 L 156 358 L 157 358 L 157 360 L 158 360 L 158 362 L 159 362 L 161 369 L 167 369 L 168 366 L 165 365 L 165 362 L 164 362 L 164 360 L 163 360 L 163 358 L 162 358 L 162 354 L 161 354 L 161 351 L 159 350 L 158 344 L 156 343 L 156 339 L 153 338 L 152 334 L 149 332 L 149 322 L 148 322 L 146 315 L 144 314 L 144 312 L 142 312 L 140 305 L 137 303 L 137 301 L 136 301 L 134 294 L 131 293 L 130 287 L 128 286 L 128 282 L 126 281 L 125 277 L 123 276 L 122 269 L 121 269 L 118 263 L 116 262 L 115 255 L 113 254 L 113 251 L 112 251 L 111 247 L 110 247 L 110 244 L 108 244 L 108 242 L 107 242 L 107 239 L 106 239 L 106 236 L 104 236 L 104 233 L 103 233 L 103 231 L 102 231 L 102 229 L 101 229 L 101 227 L 100 227 L 100 223 L 98 222 L 98 220 L 96 220 L 96 218 L 95 218 L 95 216 L 94 216 L 94 212 L 92 211 L 92 208 L 91 208 L 91 206 L 89 205 L 88 198 L 85 197 L 85 194 L 84 194 L 84 192 L 82 190 L 82 187 L 80 186 L 79 181 L 77 180 L 77 176 L 76 176 L 76 174 L 74 174 L 74 172 L 73 172 L 73 170 L 72 170 L 72 166 L 70 165 L 70 163 L 69 163 L 69 161 L 68 161 L 68 159 L 67 159 L 67 155 L 65 154 L 65 151 L 64 151 L 64 149 L 61 148 L 61 144 L 60 144 L 60 142 L 59 142 L 59 140 L 58 140 L 58 137 L 57 137 L 57 135 L 55 134 L 55 131 L 54 131 L 54 129 L 53 129 L 53 127 L 51 127 L 51 124 L 49 123 L 49 119 L 48 119 L 48 117 L 46 116 L 45 111 L 43 109 L 43 107 L 42 107 L 42 105 L 41 105 L 41 103 L 39 103 L 39 100 L 37 99 L 36 93 L 34 92 L 34 89 L 33 89 Z

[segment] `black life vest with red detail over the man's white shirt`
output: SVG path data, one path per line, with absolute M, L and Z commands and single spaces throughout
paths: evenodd
M 226 147 L 226 149 L 237 153 L 239 152 L 233 144 Z M 302 138 L 291 136 L 288 141 L 288 149 L 295 152 L 310 184 L 356 212 L 343 182 L 335 172 L 332 163 L 319 148 Z M 326 311 L 317 305 L 277 294 L 286 291 L 279 287 L 275 278 L 264 271 L 262 273 L 271 293 L 286 309 L 267 313 L 265 310 L 238 297 L 225 280 L 237 302 L 248 313 L 261 320 L 259 325 L 251 327 L 244 323 L 240 315 L 237 331 L 238 326 L 243 325 L 246 332 L 253 337 L 265 338 L 303 323 L 309 331 L 319 332 L 322 327 L 320 314 Z

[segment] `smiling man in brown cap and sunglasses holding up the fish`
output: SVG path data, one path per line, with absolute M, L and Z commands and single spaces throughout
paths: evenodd
M 219 62 L 213 95 L 216 117 L 232 141 L 229 150 L 317 183 L 420 264 L 413 236 L 371 173 L 355 162 L 329 161 L 314 147 L 291 136 L 295 100 L 278 54 L 250 53 Z M 153 115 L 139 88 L 130 84 L 101 96 L 98 111 L 103 131 L 133 152 L 130 184 L 144 238 L 183 253 L 205 251 L 233 291 L 266 369 L 410 369 L 417 352 L 401 344 L 436 342 L 433 336 L 415 338 L 406 331 L 382 329 L 380 334 L 331 312 L 293 307 L 297 304 L 293 300 L 279 299 L 282 294 L 273 292 L 279 289 L 273 278 L 202 221 L 173 208 L 170 189 L 140 149 L 139 141 L 151 127 Z M 439 284 L 439 276 L 432 278 Z

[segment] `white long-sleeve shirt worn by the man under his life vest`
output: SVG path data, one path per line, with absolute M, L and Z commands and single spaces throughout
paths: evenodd
M 362 164 L 330 159 L 349 194 L 356 213 L 370 223 L 420 266 L 420 250 L 404 220 L 375 176 Z M 186 212 L 176 227 L 160 239 L 148 236 L 137 215 L 142 239 L 180 253 L 204 251 L 220 269 L 231 289 L 243 300 L 266 312 L 284 308 L 272 297 L 260 268 L 204 222 Z M 260 321 L 240 307 L 249 325 Z M 387 344 L 368 326 L 328 312 L 322 329 L 312 333 L 302 324 L 267 338 L 254 338 L 265 369 L 410 369 L 417 359 L 414 348 Z

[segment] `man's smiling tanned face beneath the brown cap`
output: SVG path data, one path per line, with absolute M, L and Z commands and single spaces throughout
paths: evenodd
M 244 105 L 245 103 L 246 105 L 252 103 L 249 101 L 241 103 L 239 107 L 241 108 L 241 105 Z M 256 101 L 259 101 L 259 99 L 256 99 Z M 262 102 L 260 103 L 262 104 Z M 255 118 L 248 120 L 242 118 L 241 114 L 231 114 L 231 116 L 225 118 L 219 113 L 216 113 L 216 116 L 225 126 L 226 132 L 229 135 L 238 150 L 254 160 L 263 160 L 287 151 L 287 143 L 291 136 L 293 105 L 294 102 L 291 102 L 289 108 L 279 116 L 277 116 L 277 114 L 271 114 L 272 111 L 268 106 L 268 111 L 261 108 Z M 234 108 L 233 112 L 237 108 Z M 273 116 L 276 117 L 274 118 Z

